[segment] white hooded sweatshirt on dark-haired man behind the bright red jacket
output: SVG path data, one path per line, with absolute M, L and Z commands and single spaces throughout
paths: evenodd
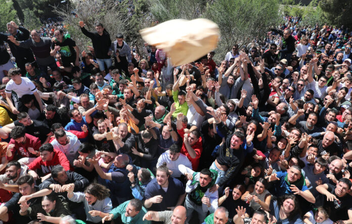
M 63 146 L 61 145 L 56 139 L 51 142 L 53 145 L 54 149 L 61 151 L 64 153 L 70 162 L 70 165 L 73 166 L 73 160 L 78 158 L 78 147 L 80 146 L 80 142 L 77 138 L 77 136 L 73 135 L 73 133 L 65 131 L 66 136 L 70 139 L 70 142 Z

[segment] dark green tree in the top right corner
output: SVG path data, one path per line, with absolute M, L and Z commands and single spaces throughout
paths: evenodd
M 324 0 L 319 2 L 322 18 L 328 24 L 352 26 L 352 4 L 350 0 Z

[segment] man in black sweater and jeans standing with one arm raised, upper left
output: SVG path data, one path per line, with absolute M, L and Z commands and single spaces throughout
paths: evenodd
M 87 37 L 92 39 L 94 52 L 99 64 L 99 69 L 101 73 L 105 74 L 105 67 L 104 63 L 106 64 L 107 68 L 111 67 L 111 39 L 110 34 L 104 29 L 103 24 L 97 23 L 95 25 L 96 32 L 90 32 L 84 28 L 85 24 L 83 21 L 79 21 L 79 26 L 82 30 L 82 33 Z

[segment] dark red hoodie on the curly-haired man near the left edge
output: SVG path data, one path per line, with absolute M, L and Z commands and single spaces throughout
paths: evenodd
M 16 154 L 18 155 L 19 158 L 23 158 L 23 157 L 29 157 L 29 158 L 34 158 L 37 157 L 36 155 L 33 155 L 32 153 L 30 153 L 28 151 L 28 147 L 33 148 L 35 151 L 39 151 L 39 147 L 41 146 L 41 142 L 38 138 L 31 136 L 29 134 L 25 134 L 26 137 L 26 143 L 22 144 L 22 143 L 17 143 L 15 140 L 11 139 L 10 144 L 14 144 L 15 147 L 11 149 L 12 152 L 12 156 L 8 157 L 6 156 L 6 158 L 9 161 L 12 161 L 15 159 Z

